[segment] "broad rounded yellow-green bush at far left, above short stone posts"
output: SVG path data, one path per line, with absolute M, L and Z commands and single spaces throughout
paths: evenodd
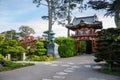
M 25 52 L 25 49 L 17 40 L 8 40 L 0 44 L 0 53 L 4 56 L 11 54 L 13 60 L 20 60 L 21 53 L 23 52 Z

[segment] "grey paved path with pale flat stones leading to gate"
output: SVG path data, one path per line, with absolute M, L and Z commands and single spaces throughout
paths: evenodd
M 0 80 L 120 80 L 98 72 L 94 57 L 82 55 L 0 73 Z

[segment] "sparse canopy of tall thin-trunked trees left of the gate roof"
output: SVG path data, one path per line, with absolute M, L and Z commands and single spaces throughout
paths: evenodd
M 50 32 L 52 31 L 52 25 L 54 24 L 54 22 L 58 21 L 60 24 L 64 24 L 64 22 L 58 20 L 60 18 L 62 19 L 64 18 L 64 20 L 67 20 L 68 23 L 70 23 L 71 10 L 83 0 L 45 0 L 47 4 L 42 3 L 42 1 L 44 0 L 33 0 L 33 3 L 37 4 L 37 7 L 39 7 L 39 5 L 45 5 L 48 7 L 48 15 L 43 16 L 42 18 L 49 20 L 49 29 L 48 29 L 49 31 L 48 38 L 49 38 Z M 68 30 L 68 36 L 69 36 L 69 30 Z

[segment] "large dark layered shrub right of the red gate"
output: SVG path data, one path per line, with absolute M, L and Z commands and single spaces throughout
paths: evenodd
M 106 61 L 112 67 L 120 64 L 120 29 L 109 28 L 98 32 L 95 61 Z

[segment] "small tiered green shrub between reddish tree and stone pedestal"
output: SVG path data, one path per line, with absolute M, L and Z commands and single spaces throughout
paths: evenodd
M 46 54 L 46 49 L 44 48 L 44 43 L 42 40 L 38 40 L 36 43 L 36 48 L 34 49 L 34 55 L 42 56 Z

